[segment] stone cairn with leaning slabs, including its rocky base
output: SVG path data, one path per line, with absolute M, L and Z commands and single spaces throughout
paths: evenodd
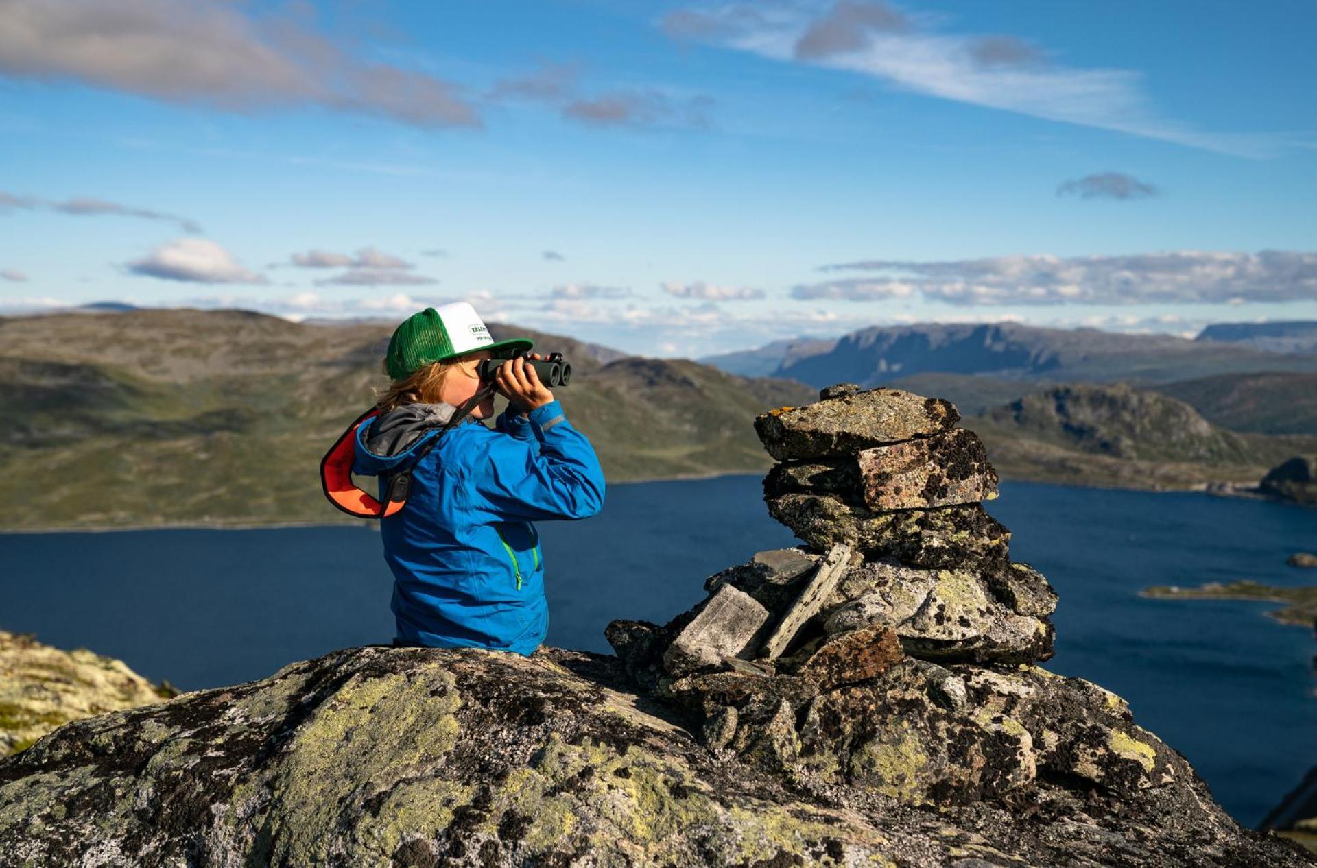
M 630 677 L 710 749 L 801 785 L 910 803 L 1192 777 L 1125 701 L 1036 665 L 1056 594 L 1011 562 L 982 443 L 947 400 L 852 383 L 755 419 L 769 514 L 805 545 L 756 553 L 658 626 L 614 620 Z

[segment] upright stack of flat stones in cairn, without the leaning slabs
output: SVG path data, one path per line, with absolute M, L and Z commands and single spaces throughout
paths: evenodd
M 1010 532 L 981 506 L 997 472 L 959 419 L 951 402 L 853 383 L 763 414 L 755 431 L 780 461 L 768 511 L 815 552 L 864 558 L 819 609 L 827 635 L 880 624 L 927 660 L 1046 660 L 1056 595 L 1010 561 Z

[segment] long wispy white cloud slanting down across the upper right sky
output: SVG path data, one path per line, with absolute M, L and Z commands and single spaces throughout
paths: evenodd
M 1009 34 L 948 33 L 927 16 L 886 3 L 801 0 L 689 7 L 660 18 L 677 38 L 712 42 L 784 62 L 848 70 L 940 99 L 1246 157 L 1283 137 L 1213 133 L 1162 117 L 1133 70 L 1052 63 Z

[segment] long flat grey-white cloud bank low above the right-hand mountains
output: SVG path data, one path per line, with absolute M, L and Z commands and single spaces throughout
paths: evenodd
M 909 299 L 960 306 L 1196 304 L 1317 300 L 1317 253 L 1179 250 L 1014 256 L 946 262 L 871 259 L 826 271 L 880 271 L 792 288 L 795 299 Z

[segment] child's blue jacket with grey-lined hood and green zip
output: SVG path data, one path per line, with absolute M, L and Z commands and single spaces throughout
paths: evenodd
M 352 472 L 377 475 L 408 461 L 452 411 L 404 404 L 361 425 Z M 535 522 L 589 518 L 603 491 L 594 448 L 557 400 L 528 419 L 504 411 L 493 429 L 465 418 L 416 464 L 407 506 L 379 522 L 398 640 L 533 652 L 549 628 Z

